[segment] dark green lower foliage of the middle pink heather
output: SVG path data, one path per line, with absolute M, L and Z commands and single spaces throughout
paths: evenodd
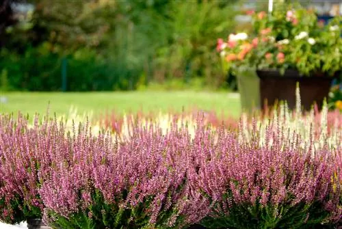
M 122 196 L 117 198 L 116 204 L 109 204 L 105 202 L 99 191 L 94 191 L 92 193 L 92 204 L 68 218 L 48 210 L 47 219 L 49 220 L 49 226 L 66 229 L 167 228 L 165 225 L 166 220 L 170 217 L 172 211 L 161 213 L 155 226 L 149 224 L 149 216 L 146 209 L 148 209 L 153 198 L 146 197 L 144 202 L 134 207 L 124 207 L 122 201 L 127 198 L 127 193 L 122 192 Z M 122 206 L 120 206 L 120 203 Z

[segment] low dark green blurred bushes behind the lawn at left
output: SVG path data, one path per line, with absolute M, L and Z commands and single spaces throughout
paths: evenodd
M 62 86 L 61 63 L 64 57 L 45 52 L 44 46 L 29 48 L 23 55 L 3 50 L 0 53 L 1 88 L 3 90 L 56 91 Z M 137 70 L 127 70 L 96 56 L 90 49 L 68 55 L 67 90 L 133 90 Z M 135 73 L 135 74 L 134 74 Z M 10 77 L 7 77 L 10 76 Z

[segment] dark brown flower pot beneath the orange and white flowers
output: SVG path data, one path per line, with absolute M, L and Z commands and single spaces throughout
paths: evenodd
M 301 76 L 297 70 L 286 70 L 280 75 L 278 70 L 257 70 L 260 79 L 261 109 L 273 107 L 280 100 L 287 100 L 290 109 L 295 109 L 295 88 L 300 84 L 300 100 L 302 108 L 310 110 L 314 103 L 321 109 L 334 77 L 325 75 Z

